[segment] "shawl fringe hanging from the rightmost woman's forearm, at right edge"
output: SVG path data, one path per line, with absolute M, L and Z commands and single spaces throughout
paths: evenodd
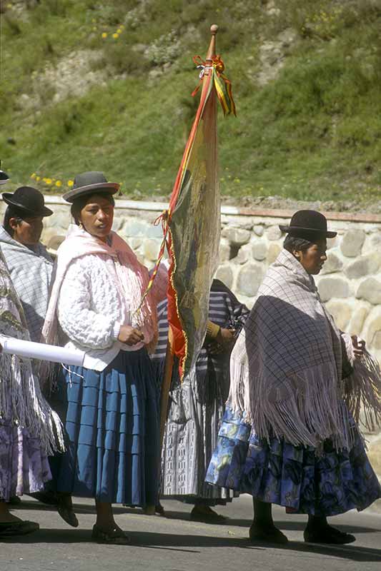
M 365 350 L 353 366 L 353 373 L 345 379 L 344 400 L 355 422 L 374 432 L 381 425 L 380 365 Z

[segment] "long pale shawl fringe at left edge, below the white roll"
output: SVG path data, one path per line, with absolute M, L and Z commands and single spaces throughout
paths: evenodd
M 59 416 L 44 399 L 31 361 L 16 355 L 0 355 L 0 418 L 11 418 L 41 440 L 47 455 L 63 452 L 64 433 Z

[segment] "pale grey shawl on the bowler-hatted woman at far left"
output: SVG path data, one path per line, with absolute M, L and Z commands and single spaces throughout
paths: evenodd
M 24 246 L 0 226 L 0 246 L 24 308 L 31 340 L 39 342 L 49 301 L 53 260 L 41 243 Z

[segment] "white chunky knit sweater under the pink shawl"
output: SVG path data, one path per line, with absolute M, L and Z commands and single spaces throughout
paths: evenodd
M 144 342 L 129 346 L 118 339 L 120 326 L 131 325 L 129 299 L 122 291 L 110 256 L 88 254 L 69 266 L 61 285 L 58 318 L 69 342 L 66 348 L 84 350 L 84 367 L 104 370 L 119 350 L 138 350 L 152 339 L 144 330 Z

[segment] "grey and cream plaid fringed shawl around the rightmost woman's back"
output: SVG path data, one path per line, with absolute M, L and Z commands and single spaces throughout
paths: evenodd
M 228 403 L 260 438 L 349 448 L 340 331 L 315 281 L 283 250 L 269 267 L 231 358 Z

